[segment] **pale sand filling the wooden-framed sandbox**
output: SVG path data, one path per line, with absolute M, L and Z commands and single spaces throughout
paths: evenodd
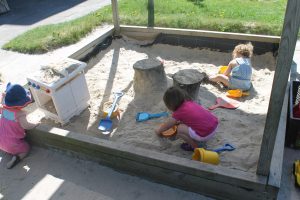
M 42 123 L 191 159 L 192 152 L 180 148 L 183 142 L 181 139 L 169 140 L 154 134 L 154 128 L 166 118 L 135 121 L 138 112 L 158 113 L 168 110 L 162 101 L 162 93 L 135 94 L 133 64 L 145 58 L 163 60 L 168 85 L 171 86 L 171 76 L 181 69 L 197 69 L 209 75 L 216 74 L 220 65 L 228 64 L 231 52 L 164 44 L 140 47 L 140 44 L 141 42 L 126 37 L 114 40 L 108 49 L 100 52 L 88 63 L 85 75 L 91 95 L 88 109 L 73 117 L 70 123 L 63 127 L 48 119 L 43 119 Z M 208 141 L 207 145 L 209 148 L 218 148 L 225 143 L 234 145 L 236 150 L 220 154 L 220 165 L 254 173 L 268 109 L 275 58 L 272 53 L 254 55 L 252 64 L 253 88 L 250 90 L 250 96 L 239 98 L 240 107 L 236 110 L 217 108 L 212 111 L 219 118 L 220 124 L 216 136 Z M 121 117 L 113 119 L 112 133 L 103 135 L 97 129 L 102 116 L 102 105 L 113 100 L 114 91 L 124 92 L 118 103 Z M 224 88 L 202 83 L 197 101 L 207 108 L 215 104 L 216 97 L 224 97 L 226 91 Z

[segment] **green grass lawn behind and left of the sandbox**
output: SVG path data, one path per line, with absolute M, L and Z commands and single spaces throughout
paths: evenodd
M 155 26 L 280 35 L 287 0 L 163 0 L 154 2 Z M 121 24 L 147 26 L 148 0 L 119 1 Z M 97 26 L 112 23 L 111 6 L 87 16 L 32 29 L 3 46 L 45 53 L 78 42 Z

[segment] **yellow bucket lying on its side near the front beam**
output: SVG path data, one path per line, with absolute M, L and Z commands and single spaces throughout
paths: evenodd
M 213 165 L 218 165 L 220 163 L 219 154 L 217 152 L 207 151 L 203 148 L 195 148 L 192 159 Z

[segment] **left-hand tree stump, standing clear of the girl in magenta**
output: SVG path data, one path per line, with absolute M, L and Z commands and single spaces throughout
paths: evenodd
M 157 59 L 143 59 L 133 64 L 133 88 L 137 95 L 163 93 L 167 88 L 167 77 L 163 63 Z

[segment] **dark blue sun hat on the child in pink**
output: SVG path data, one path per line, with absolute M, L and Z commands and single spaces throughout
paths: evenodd
M 23 108 L 31 103 L 30 92 L 21 85 L 8 83 L 5 90 L 4 106 Z

